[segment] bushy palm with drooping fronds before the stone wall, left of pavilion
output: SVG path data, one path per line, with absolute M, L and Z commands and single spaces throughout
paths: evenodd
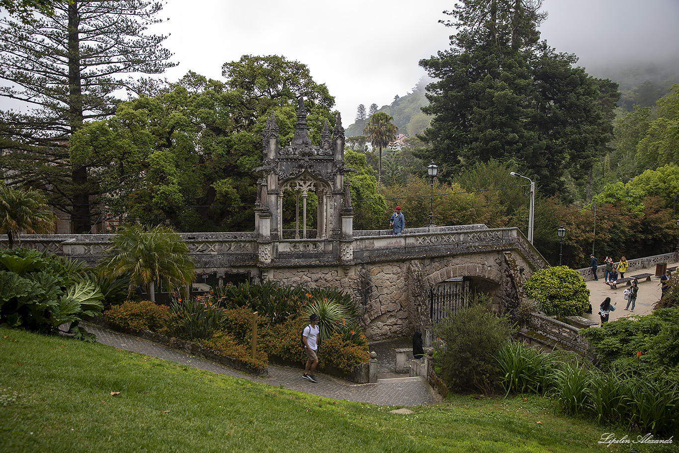
M 142 285 L 151 302 L 155 302 L 154 280 L 184 292 L 196 276 L 186 243 L 164 225 L 122 227 L 99 266 L 113 277 L 130 274 L 128 297 L 136 285 Z

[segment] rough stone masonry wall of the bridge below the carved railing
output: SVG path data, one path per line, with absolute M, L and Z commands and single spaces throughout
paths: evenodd
M 529 269 L 522 257 L 515 259 Z M 350 291 L 367 338 L 384 340 L 430 325 L 428 289 L 456 276 L 473 277 L 475 289 L 490 293 L 498 311 L 516 295 L 504 257 L 496 252 L 359 264 L 346 276 L 337 267 L 274 268 L 272 280 Z

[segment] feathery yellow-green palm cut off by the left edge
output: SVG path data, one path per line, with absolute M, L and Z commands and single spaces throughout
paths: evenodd
M 24 231 L 30 234 L 52 233 L 56 215 L 39 189 L 13 189 L 0 183 L 0 232 L 7 234 L 10 249 Z

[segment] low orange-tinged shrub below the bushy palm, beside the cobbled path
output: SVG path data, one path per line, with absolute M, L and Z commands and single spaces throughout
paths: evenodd
M 156 305 L 150 300 L 135 302 L 128 300 L 122 305 L 112 306 L 104 312 L 107 323 L 119 329 L 158 332 L 170 322 L 170 308 Z

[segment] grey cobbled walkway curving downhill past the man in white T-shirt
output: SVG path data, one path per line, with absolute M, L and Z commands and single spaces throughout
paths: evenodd
M 88 332 L 96 335 L 97 342 L 114 348 L 139 352 L 150 357 L 158 357 L 188 365 L 209 372 L 227 374 L 234 378 L 249 379 L 264 382 L 274 386 L 284 386 L 289 390 L 311 393 L 321 397 L 346 399 L 363 403 L 381 405 L 414 406 L 433 404 L 441 401 L 441 396 L 433 391 L 424 378 L 382 378 L 378 375 L 376 384 L 352 384 L 325 374 L 316 374 L 318 383 L 314 384 L 301 377 L 303 371 L 297 368 L 269 365 L 269 376 L 260 377 L 238 372 L 218 363 L 199 359 L 178 350 L 166 348 L 160 344 L 149 342 L 143 338 L 128 336 L 124 333 L 112 331 L 99 325 L 81 324 Z M 379 356 L 378 356 L 379 360 Z M 390 376 L 388 374 L 383 375 Z

